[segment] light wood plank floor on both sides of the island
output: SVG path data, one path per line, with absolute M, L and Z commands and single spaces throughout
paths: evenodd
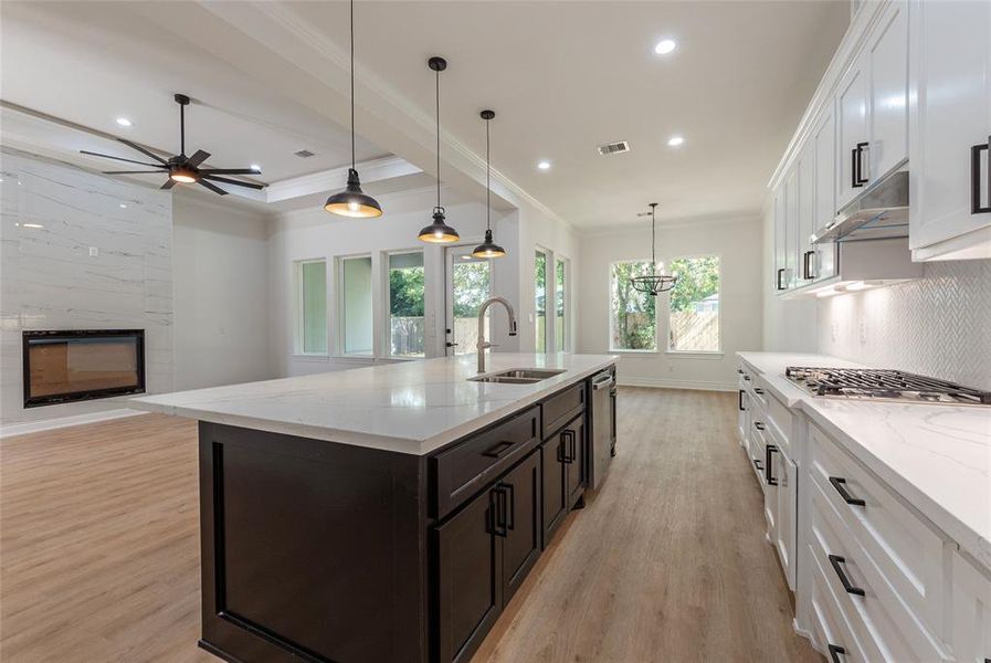
M 475 663 L 821 661 L 791 629 L 735 396 L 624 388 L 609 481 Z M 199 635 L 196 425 L 0 443 L 0 660 L 217 661 Z

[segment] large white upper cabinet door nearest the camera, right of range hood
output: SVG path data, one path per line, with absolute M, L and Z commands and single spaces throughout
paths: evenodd
M 951 250 L 970 243 L 983 255 L 981 248 L 991 251 L 991 2 L 914 0 L 909 27 L 909 245 L 955 240 Z

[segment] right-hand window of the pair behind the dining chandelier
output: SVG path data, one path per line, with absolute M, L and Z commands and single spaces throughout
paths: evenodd
M 668 350 L 718 352 L 719 257 L 679 257 L 671 270 L 678 282 L 671 290 Z

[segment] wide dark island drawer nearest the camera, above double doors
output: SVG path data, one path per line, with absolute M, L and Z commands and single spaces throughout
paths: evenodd
M 441 518 L 539 443 L 540 408 L 477 433 L 430 460 L 432 515 Z

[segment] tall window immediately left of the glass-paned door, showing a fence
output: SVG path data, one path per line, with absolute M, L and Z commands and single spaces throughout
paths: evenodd
M 389 256 L 389 352 L 423 357 L 423 252 Z

